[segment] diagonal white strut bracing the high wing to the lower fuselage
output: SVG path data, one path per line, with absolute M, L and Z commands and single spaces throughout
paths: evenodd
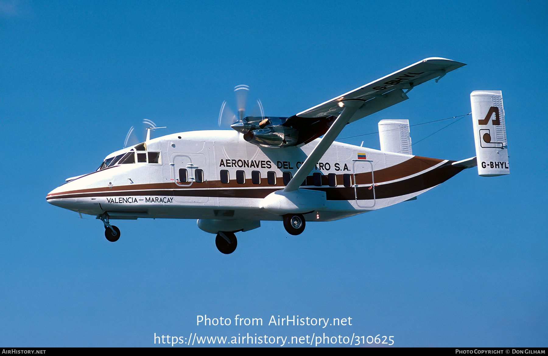
M 335 138 L 339 136 L 339 133 L 343 131 L 345 125 L 348 124 L 352 115 L 354 115 L 354 113 L 363 105 L 363 102 L 363 100 L 345 100 L 339 102 L 339 106 L 343 107 L 343 112 L 336 118 L 331 127 L 329 127 L 329 130 L 327 130 L 326 135 L 323 136 L 322 140 L 300 166 L 297 173 L 295 173 L 295 176 L 293 176 L 286 188 L 284 188 L 284 192 L 299 189 L 299 186 L 303 180 L 305 180 L 305 177 L 308 176 L 310 171 L 312 171 L 312 168 L 316 166 L 319 159 L 322 158 L 329 146 L 335 141 Z

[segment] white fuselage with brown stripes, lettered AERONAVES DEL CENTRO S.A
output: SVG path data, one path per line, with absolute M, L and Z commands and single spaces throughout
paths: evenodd
M 284 189 L 284 172 L 292 177 L 318 142 L 269 148 L 233 130 L 174 133 L 146 150 L 112 153 L 106 159 L 135 151 L 134 162 L 73 179 L 47 201 L 111 219 L 282 220 L 265 198 Z M 316 197 L 301 213 L 337 220 L 412 199 L 464 169 L 453 162 L 333 142 L 298 189 Z

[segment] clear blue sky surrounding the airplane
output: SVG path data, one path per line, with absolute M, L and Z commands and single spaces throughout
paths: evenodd
M 0 0 L 0 345 L 326 332 L 393 335 L 395 346 L 546 346 L 546 149 L 534 132 L 545 126 L 547 15 L 541 1 Z M 238 234 L 232 255 L 195 220 L 121 221 L 109 243 L 98 220 L 45 202 L 144 119 L 165 133 L 216 129 L 238 84 L 267 114 L 289 116 L 432 56 L 467 66 L 340 137 L 381 119 L 466 114 L 471 91 L 501 90 L 509 176 L 467 170 L 416 201 L 311 223 L 298 237 L 262 223 Z M 412 127 L 413 141 L 446 124 Z M 379 148 L 377 135 L 343 142 L 362 140 Z M 413 153 L 475 155 L 469 116 Z M 353 325 L 196 326 L 203 314 Z

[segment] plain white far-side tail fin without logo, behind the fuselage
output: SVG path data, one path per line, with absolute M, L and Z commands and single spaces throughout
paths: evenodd
M 412 155 L 409 120 L 379 121 L 380 150 Z

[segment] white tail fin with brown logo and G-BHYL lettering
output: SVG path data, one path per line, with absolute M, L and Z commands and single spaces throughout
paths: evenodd
M 478 174 L 482 177 L 510 174 L 500 90 L 476 90 L 470 94 Z

